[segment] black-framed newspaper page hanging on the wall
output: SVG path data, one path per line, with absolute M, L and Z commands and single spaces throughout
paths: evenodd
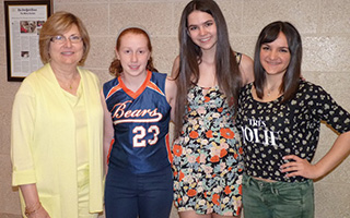
M 51 0 L 4 1 L 8 81 L 23 81 L 43 65 L 38 39 L 51 10 Z

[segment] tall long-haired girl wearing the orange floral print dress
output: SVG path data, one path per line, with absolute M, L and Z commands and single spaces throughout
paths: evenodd
M 240 88 L 253 81 L 253 61 L 231 49 L 211 0 L 186 5 L 179 44 L 173 66 L 175 205 L 180 218 L 238 217 L 243 160 L 234 109 Z

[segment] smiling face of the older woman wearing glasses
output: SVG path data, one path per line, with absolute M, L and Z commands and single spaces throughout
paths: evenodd
M 50 41 L 49 56 L 50 63 L 54 65 L 78 65 L 83 56 L 83 41 L 72 44 L 70 37 L 81 36 L 77 25 L 72 25 L 70 29 L 61 34 L 67 38 L 63 44 Z

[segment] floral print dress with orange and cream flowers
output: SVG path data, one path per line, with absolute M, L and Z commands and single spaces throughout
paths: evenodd
M 243 149 L 233 108 L 212 87 L 192 86 L 183 131 L 173 146 L 174 199 L 178 211 L 237 216 L 242 207 Z

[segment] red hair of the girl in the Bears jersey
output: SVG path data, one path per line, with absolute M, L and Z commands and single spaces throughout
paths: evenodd
M 152 52 L 152 45 L 151 45 L 151 39 L 150 39 L 150 36 L 149 34 L 142 29 L 141 27 L 128 27 L 128 28 L 125 28 L 120 32 L 120 34 L 118 35 L 117 37 L 117 41 L 116 41 L 116 50 L 119 50 L 120 48 L 120 39 L 124 35 L 128 34 L 128 33 L 131 33 L 131 34 L 139 34 L 139 35 L 143 35 L 147 40 L 148 40 L 148 44 L 147 44 L 147 47 L 148 49 L 150 50 L 150 52 Z M 158 70 L 154 68 L 154 64 L 153 64 L 153 59 L 152 59 L 152 56 L 150 57 L 148 63 L 147 63 L 147 70 L 149 71 L 156 71 Z M 121 66 L 121 63 L 120 63 L 120 60 L 117 59 L 117 57 L 114 58 L 113 62 L 110 63 L 109 65 L 109 73 L 116 77 L 118 77 L 120 75 L 120 73 L 122 72 L 122 66 Z

